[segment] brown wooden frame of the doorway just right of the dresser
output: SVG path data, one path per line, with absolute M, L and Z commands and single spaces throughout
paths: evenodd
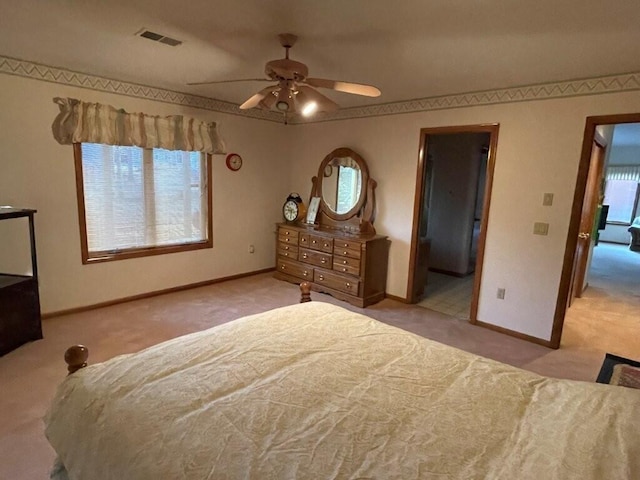
M 420 129 L 420 146 L 418 150 L 418 166 L 416 171 L 416 190 L 413 200 L 413 226 L 411 230 L 411 247 L 409 253 L 409 280 L 407 283 L 407 300 L 416 303 L 414 298 L 414 283 L 416 276 L 416 262 L 418 261 L 418 240 L 420 236 L 420 213 L 426 185 L 423 185 L 424 169 L 426 168 L 428 137 L 430 135 L 453 133 L 488 133 L 489 153 L 487 156 L 487 174 L 484 183 L 484 199 L 482 203 L 482 219 L 480 220 L 480 235 L 478 236 L 478 253 L 476 257 L 475 277 L 473 281 L 473 294 L 469 322 L 475 324 L 478 319 L 478 294 L 482 279 L 482 265 L 484 261 L 484 247 L 487 238 L 487 225 L 489 222 L 489 209 L 491 206 L 491 188 L 493 186 L 493 172 L 496 162 L 496 149 L 498 146 L 499 123 L 487 123 L 479 125 L 461 125 L 449 127 L 429 127 Z

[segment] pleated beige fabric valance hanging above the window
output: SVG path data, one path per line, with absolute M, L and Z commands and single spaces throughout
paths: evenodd
M 62 145 L 102 143 L 106 145 L 164 148 L 166 150 L 225 153 L 215 122 L 182 115 L 159 117 L 128 113 L 110 105 L 75 98 L 53 99 L 60 113 L 53 121 L 53 136 Z

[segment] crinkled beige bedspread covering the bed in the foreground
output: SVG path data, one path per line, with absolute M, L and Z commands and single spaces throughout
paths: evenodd
M 320 302 L 89 366 L 46 434 L 72 480 L 640 479 L 640 391 Z

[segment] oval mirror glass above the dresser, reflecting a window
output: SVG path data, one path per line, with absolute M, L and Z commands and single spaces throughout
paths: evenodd
M 322 174 L 322 199 L 331 211 L 344 214 L 356 206 L 362 192 L 362 171 L 353 158 L 332 158 Z

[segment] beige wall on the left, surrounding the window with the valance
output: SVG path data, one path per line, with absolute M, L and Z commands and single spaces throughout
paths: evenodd
M 44 312 L 273 267 L 274 223 L 281 218 L 290 183 L 284 126 L 9 75 L 0 75 L 0 95 L 0 205 L 38 210 Z M 214 248 L 82 265 L 72 147 L 59 145 L 51 134 L 58 112 L 52 102 L 56 96 L 219 122 L 228 150 L 240 153 L 244 165 L 231 172 L 224 155 L 213 156 Z M 19 268 L 5 245 L 19 247 L 24 242 L 11 231 L 0 230 L 0 267 Z M 254 254 L 248 253 L 249 244 L 255 245 Z

